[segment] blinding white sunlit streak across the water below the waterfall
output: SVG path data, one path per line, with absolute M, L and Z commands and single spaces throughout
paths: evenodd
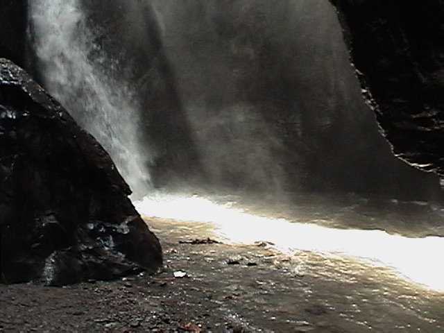
M 154 196 L 135 203 L 140 214 L 180 221 L 212 223 L 233 243 L 268 241 L 284 253 L 312 251 L 364 259 L 393 268 L 402 277 L 444 291 L 444 238 L 408 238 L 380 230 L 343 230 L 247 214 L 207 198 Z

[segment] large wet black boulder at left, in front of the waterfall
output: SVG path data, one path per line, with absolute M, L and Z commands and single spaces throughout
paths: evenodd
M 108 153 L 4 59 L 0 183 L 1 282 L 59 285 L 162 265 Z

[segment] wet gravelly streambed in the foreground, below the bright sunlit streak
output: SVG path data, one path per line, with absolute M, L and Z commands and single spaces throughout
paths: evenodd
M 150 219 L 164 270 L 67 287 L 0 286 L 3 332 L 440 332 L 444 294 L 351 258 L 218 243 Z M 219 239 L 220 241 L 221 239 Z

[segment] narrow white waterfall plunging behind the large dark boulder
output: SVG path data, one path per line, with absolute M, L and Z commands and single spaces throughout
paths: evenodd
M 80 0 L 30 0 L 29 26 L 44 87 L 110 153 L 133 196 L 146 194 L 151 158 L 136 90 L 119 79 L 119 60 L 96 42 Z

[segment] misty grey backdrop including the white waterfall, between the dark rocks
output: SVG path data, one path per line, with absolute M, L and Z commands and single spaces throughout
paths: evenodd
M 379 133 L 327 1 L 34 3 L 42 82 L 134 197 L 442 198 L 438 178 L 396 159 Z

